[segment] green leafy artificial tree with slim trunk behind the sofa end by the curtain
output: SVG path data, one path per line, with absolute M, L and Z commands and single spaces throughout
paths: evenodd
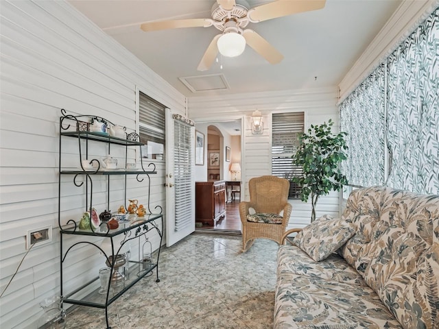
M 346 176 L 340 171 L 340 163 L 346 160 L 348 149 L 344 137 L 346 132 L 333 134 L 333 121 L 322 125 L 311 125 L 307 134 L 299 137 L 300 145 L 293 162 L 302 168 L 300 177 L 292 181 L 300 186 L 300 199 L 307 202 L 311 196 L 311 223 L 316 219 L 316 204 L 320 195 L 330 191 L 340 191 L 348 184 Z

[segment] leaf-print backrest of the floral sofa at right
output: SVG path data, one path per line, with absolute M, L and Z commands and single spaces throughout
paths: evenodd
M 342 218 L 357 226 L 341 250 L 348 263 L 404 328 L 434 328 L 439 316 L 439 196 L 361 188 L 349 197 Z

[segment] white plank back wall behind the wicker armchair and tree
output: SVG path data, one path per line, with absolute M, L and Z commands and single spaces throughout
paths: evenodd
M 189 116 L 197 121 L 212 120 L 245 113 L 241 149 L 241 179 L 243 200 L 250 199 L 250 178 L 271 174 L 271 114 L 276 112 L 305 112 L 305 130 L 311 124 L 333 119 L 338 125 L 337 88 L 286 90 L 283 92 L 232 95 L 228 97 L 191 97 L 188 99 Z M 263 114 L 263 134 L 252 134 L 251 114 L 254 110 Z M 196 125 L 195 125 L 196 128 Z M 338 127 L 335 127 L 338 131 Z M 290 200 L 293 211 L 289 227 L 303 227 L 311 218 L 311 203 Z M 318 201 L 317 215 L 339 216 L 339 193 L 333 192 Z

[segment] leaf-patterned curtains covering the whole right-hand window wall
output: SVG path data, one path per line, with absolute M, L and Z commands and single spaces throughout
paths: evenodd
M 340 129 L 350 184 L 439 193 L 439 8 L 340 103 Z

